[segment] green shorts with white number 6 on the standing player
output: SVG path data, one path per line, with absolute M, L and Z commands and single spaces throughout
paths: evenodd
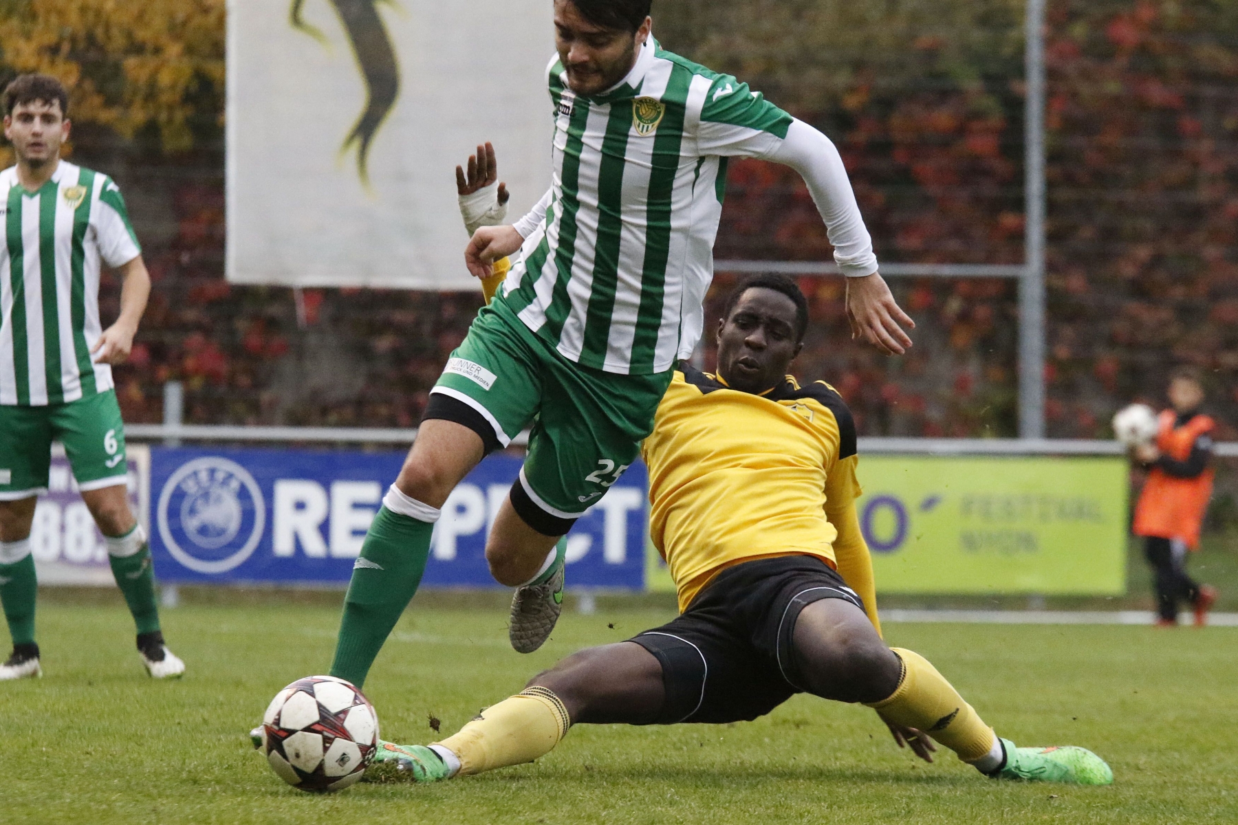
M 45 407 L 0 406 L 0 501 L 47 492 L 52 442 L 61 442 L 82 490 L 126 480 L 125 425 L 116 392 Z

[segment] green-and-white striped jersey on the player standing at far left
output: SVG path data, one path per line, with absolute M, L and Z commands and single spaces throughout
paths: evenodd
M 0 404 L 43 406 L 110 390 L 93 364 L 99 340 L 99 266 L 141 254 L 120 189 L 105 174 L 61 161 L 37 192 L 0 172 Z

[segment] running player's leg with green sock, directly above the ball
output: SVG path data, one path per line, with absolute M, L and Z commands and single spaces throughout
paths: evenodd
M 370 665 L 421 584 L 447 496 L 484 454 L 482 438 L 463 424 L 438 418 L 421 423 L 353 564 L 333 677 L 358 688 L 365 684 Z

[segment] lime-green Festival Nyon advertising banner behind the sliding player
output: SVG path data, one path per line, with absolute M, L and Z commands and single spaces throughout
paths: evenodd
M 1125 592 L 1122 458 L 860 456 L 878 592 Z M 675 584 L 649 548 L 646 586 Z

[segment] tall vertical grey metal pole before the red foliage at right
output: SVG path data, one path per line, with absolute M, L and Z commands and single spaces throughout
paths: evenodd
M 1019 281 L 1019 435 L 1045 437 L 1045 0 L 1028 0 L 1025 271 Z

